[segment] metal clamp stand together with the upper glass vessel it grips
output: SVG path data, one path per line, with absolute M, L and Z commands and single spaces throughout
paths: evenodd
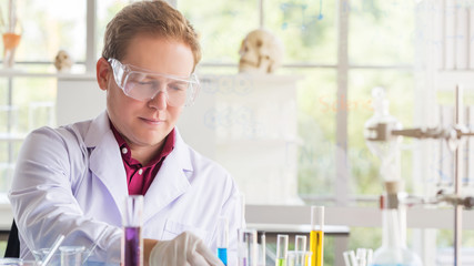
M 397 150 L 401 137 L 413 137 L 418 140 L 434 139 L 445 141 L 450 151 L 454 154 L 454 193 L 440 191 L 435 197 L 430 200 L 400 198 L 405 205 L 413 204 L 441 204 L 447 203 L 454 206 L 454 265 L 461 265 L 461 233 L 462 233 L 462 209 L 474 208 L 474 197 L 462 196 L 461 194 L 461 152 L 460 146 L 467 137 L 474 136 L 474 131 L 461 124 L 462 113 L 462 90 L 457 85 L 455 89 L 455 124 L 452 126 L 438 126 L 433 129 L 402 129 L 401 124 L 389 114 L 389 103 L 385 100 L 385 92 L 381 88 L 372 91 L 374 98 L 374 116 L 364 126 L 364 137 L 373 153 L 382 160 L 382 166 L 394 162 L 393 151 Z M 385 162 L 384 162 L 385 161 Z M 385 165 L 384 165 L 385 164 Z M 393 171 L 392 171 L 392 174 Z M 383 176 L 390 180 L 393 176 Z

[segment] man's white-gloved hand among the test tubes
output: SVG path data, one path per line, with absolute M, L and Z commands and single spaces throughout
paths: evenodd
M 171 241 L 159 241 L 150 254 L 150 266 L 223 266 L 221 260 L 190 232 Z

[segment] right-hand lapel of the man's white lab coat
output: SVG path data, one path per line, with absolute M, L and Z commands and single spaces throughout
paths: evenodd
M 167 156 L 160 171 L 144 195 L 144 222 L 181 196 L 190 186 L 186 173 L 192 172 L 189 147 L 175 129 L 173 151 Z

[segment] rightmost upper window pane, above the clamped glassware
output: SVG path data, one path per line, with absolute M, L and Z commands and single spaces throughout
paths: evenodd
M 412 64 L 416 1 L 343 1 L 353 64 Z

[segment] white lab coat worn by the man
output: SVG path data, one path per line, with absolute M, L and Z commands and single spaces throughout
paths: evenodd
M 191 231 L 215 250 L 218 217 L 226 216 L 229 257 L 234 260 L 242 222 L 235 182 L 175 132 L 174 150 L 144 195 L 143 237 L 171 239 Z M 51 246 L 64 234 L 63 245 L 91 247 L 97 242 L 92 260 L 119 263 L 127 195 L 125 171 L 107 112 L 92 121 L 33 131 L 18 156 L 9 194 L 20 257 Z

